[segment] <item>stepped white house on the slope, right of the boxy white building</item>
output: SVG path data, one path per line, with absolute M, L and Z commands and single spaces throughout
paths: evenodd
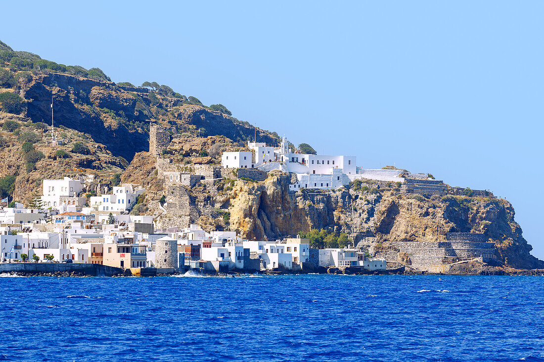
M 89 206 L 97 211 L 125 213 L 132 209 L 136 199 L 144 191 L 144 188 L 135 189 L 131 184 L 114 186 L 112 194 L 91 196 Z

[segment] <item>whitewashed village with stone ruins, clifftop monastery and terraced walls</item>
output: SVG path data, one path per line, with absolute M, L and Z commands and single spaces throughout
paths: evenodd
M 289 149 L 285 138 L 277 147 L 248 141 L 250 151 L 222 152 L 221 166 L 205 164 L 187 169 L 163 158 L 170 142 L 166 129 L 151 126 L 150 153 L 156 157 L 166 194 L 164 202 L 159 202 L 157 215 L 130 213 L 145 192 L 143 185 L 123 183 L 111 189 L 106 186 L 104 194 L 89 196 L 84 190 L 94 182 L 90 174 L 74 179 L 46 179 L 36 208 L 24 208 L 16 202 L 0 213 L 2 261 L 70 261 L 170 272 L 368 273 L 400 270 L 406 265 L 436 272 L 448 261 L 456 264 L 462 260 L 497 260 L 493 242 L 481 233 L 450 232 L 445 234 L 447 241 L 435 244 L 402 241 L 390 244 L 384 252 L 361 241 L 358 245 L 318 249 L 300 235 L 259 241 L 244 239 L 236 231 L 203 230 L 193 223 L 191 210 L 199 211 L 191 202 L 191 188 L 200 183 L 213 187 L 233 175 L 249 183 L 267 179 L 268 173 L 292 175 L 289 193 L 331 191 L 350 185 L 353 188 L 360 182 L 399 183 L 405 192 L 427 197 L 466 190 L 448 188 L 426 174 L 357 167 L 353 156 L 304 154 Z M 490 196 L 487 191 L 470 191 Z

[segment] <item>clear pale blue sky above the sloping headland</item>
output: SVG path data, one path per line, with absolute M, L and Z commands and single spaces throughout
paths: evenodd
M 171 86 L 318 153 L 507 198 L 544 259 L 544 2 L 16 2 L 0 40 Z M 24 14 L 24 16 L 22 15 Z M 21 17 L 23 16 L 23 17 Z

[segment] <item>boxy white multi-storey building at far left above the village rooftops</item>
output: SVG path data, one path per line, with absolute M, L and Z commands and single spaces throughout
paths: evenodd
M 58 208 L 61 204 L 85 205 L 85 197 L 78 197 L 83 191 L 80 180 L 65 177 L 61 180 L 44 180 L 44 190 L 41 196 L 42 207 Z

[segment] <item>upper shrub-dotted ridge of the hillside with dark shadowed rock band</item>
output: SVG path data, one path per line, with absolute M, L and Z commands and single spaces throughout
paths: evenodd
M 206 107 L 169 86 L 144 85 L 115 84 L 99 68 L 57 64 L 36 54 L 14 52 L 0 42 L 0 93 L 14 93 L 22 102 L 21 107 L 4 110 L 51 123 L 53 98 L 55 124 L 89 134 L 128 162 L 149 149 L 150 123 L 169 127 L 174 134 L 222 135 L 240 146 L 254 136 L 255 128 L 234 118 L 224 105 Z M 258 132 L 264 142 L 278 139 L 277 134 Z

